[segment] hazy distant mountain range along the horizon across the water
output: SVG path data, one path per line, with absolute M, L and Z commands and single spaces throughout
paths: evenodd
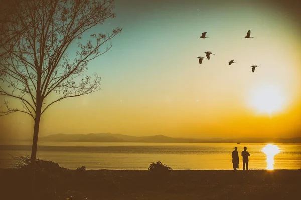
M 301 143 L 300 138 L 238 138 L 238 139 L 195 139 L 195 138 L 174 138 L 164 135 L 155 136 L 128 136 L 112 133 L 90 133 L 90 134 L 54 134 L 39 138 L 39 141 L 53 142 L 149 142 L 149 143 Z

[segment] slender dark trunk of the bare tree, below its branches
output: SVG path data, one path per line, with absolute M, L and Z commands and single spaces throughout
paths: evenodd
M 34 136 L 33 136 L 33 145 L 30 163 L 34 167 L 37 157 L 37 147 L 38 147 L 38 136 L 39 136 L 39 127 L 40 127 L 40 119 L 41 119 L 41 109 L 42 103 L 37 103 L 36 107 L 36 116 L 35 116 L 35 126 L 34 126 Z

